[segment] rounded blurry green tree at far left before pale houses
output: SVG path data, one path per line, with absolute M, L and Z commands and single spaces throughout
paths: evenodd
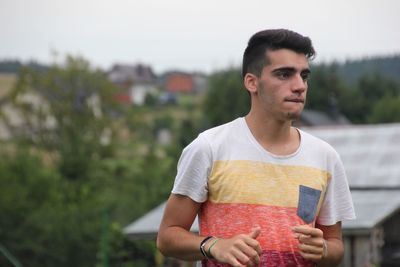
M 23 68 L 12 101 L 23 123 L 14 136 L 55 155 L 64 177 L 85 179 L 112 146 L 113 85 L 89 62 L 68 56 L 47 71 Z M 53 153 L 54 152 L 54 153 Z

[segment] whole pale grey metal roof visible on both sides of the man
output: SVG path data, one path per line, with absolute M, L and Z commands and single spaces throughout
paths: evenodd
M 343 222 L 345 233 L 368 232 L 400 210 L 400 123 L 304 130 L 330 143 L 342 158 L 357 216 Z M 125 233 L 155 237 L 164 207 L 165 203 L 128 225 Z M 192 229 L 198 230 L 196 222 Z

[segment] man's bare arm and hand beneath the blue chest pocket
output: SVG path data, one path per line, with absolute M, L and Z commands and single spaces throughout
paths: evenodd
M 343 257 L 341 222 L 334 225 L 296 226 L 294 232 L 299 239 L 300 254 L 318 266 L 337 266 Z

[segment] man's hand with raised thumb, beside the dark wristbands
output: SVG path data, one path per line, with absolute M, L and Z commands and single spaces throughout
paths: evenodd
M 234 267 L 259 266 L 261 246 L 256 240 L 261 228 L 253 229 L 249 234 L 241 234 L 230 239 L 220 239 L 211 248 L 211 255 L 221 263 L 228 263 Z M 208 249 L 213 242 L 209 242 Z

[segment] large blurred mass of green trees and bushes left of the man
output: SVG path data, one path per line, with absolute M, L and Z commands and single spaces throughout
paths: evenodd
M 121 116 L 113 90 L 82 58 L 20 73 L 10 104 L 23 123 L 3 117 L 13 139 L 0 150 L 0 240 L 24 266 L 99 266 L 104 251 L 112 266 L 154 266 L 154 242 L 129 241 L 120 225 L 167 198 L 176 154 L 154 144 L 139 111 Z M 138 127 L 145 143 L 121 136 Z

